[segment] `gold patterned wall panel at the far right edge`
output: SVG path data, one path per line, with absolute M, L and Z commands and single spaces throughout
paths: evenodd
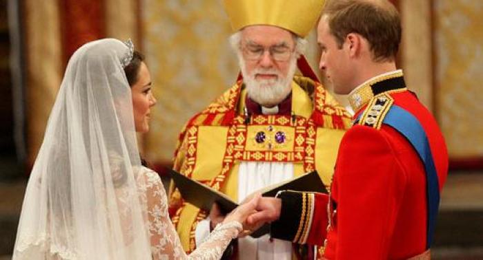
M 435 0 L 437 114 L 452 158 L 483 159 L 483 1 Z

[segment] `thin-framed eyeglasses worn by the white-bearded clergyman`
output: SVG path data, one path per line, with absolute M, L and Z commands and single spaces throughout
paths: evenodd
M 291 50 L 286 45 L 274 45 L 265 48 L 260 45 L 248 43 L 247 45 L 242 47 L 244 57 L 248 61 L 261 60 L 262 56 L 264 56 L 266 51 L 268 51 L 270 57 L 272 57 L 275 61 L 288 61 L 293 52 L 293 50 Z

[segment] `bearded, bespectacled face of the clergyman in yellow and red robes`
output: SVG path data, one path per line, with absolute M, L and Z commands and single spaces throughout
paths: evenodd
M 288 96 L 297 65 L 290 32 L 270 25 L 244 28 L 239 61 L 248 96 L 255 102 L 271 107 Z

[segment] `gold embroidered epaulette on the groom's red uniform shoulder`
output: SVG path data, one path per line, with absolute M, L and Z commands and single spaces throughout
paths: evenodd
M 393 103 L 394 99 L 387 93 L 374 96 L 362 113 L 358 124 L 373 127 L 377 130 L 381 129 L 382 121 Z

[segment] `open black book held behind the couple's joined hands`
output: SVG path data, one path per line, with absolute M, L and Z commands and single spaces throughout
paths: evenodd
M 183 199 L 186 202 L 197 206 L 198 208 L 209 211 L 213 203 L 217 202 L 223 213 L 229 213 L 238 206 L 238 204 L 230 199 L 230 197 L 224 193 L 216 191 L 210 186 L 190 179 L 185 175 L 178 173 L 177 171 L 170 170 L 170 175 L 172 180 L 174 180 L 179 192 L 181 193 L 181 196 L 183 196 Z M 257 192 L 262 193 L 262 196 L 264 197 L 275 197 L 279 191 L 327 193 L 326 187 L 320 179 L 317 171 L 305 173 L 286 182 L 280 182 L 278 184 L 267 186 Z M 268 233 L 268 228 L 268 225 L 264 225 L 253 232 L 250 236 L 255 238 L 261 237 L 262 235 Z

